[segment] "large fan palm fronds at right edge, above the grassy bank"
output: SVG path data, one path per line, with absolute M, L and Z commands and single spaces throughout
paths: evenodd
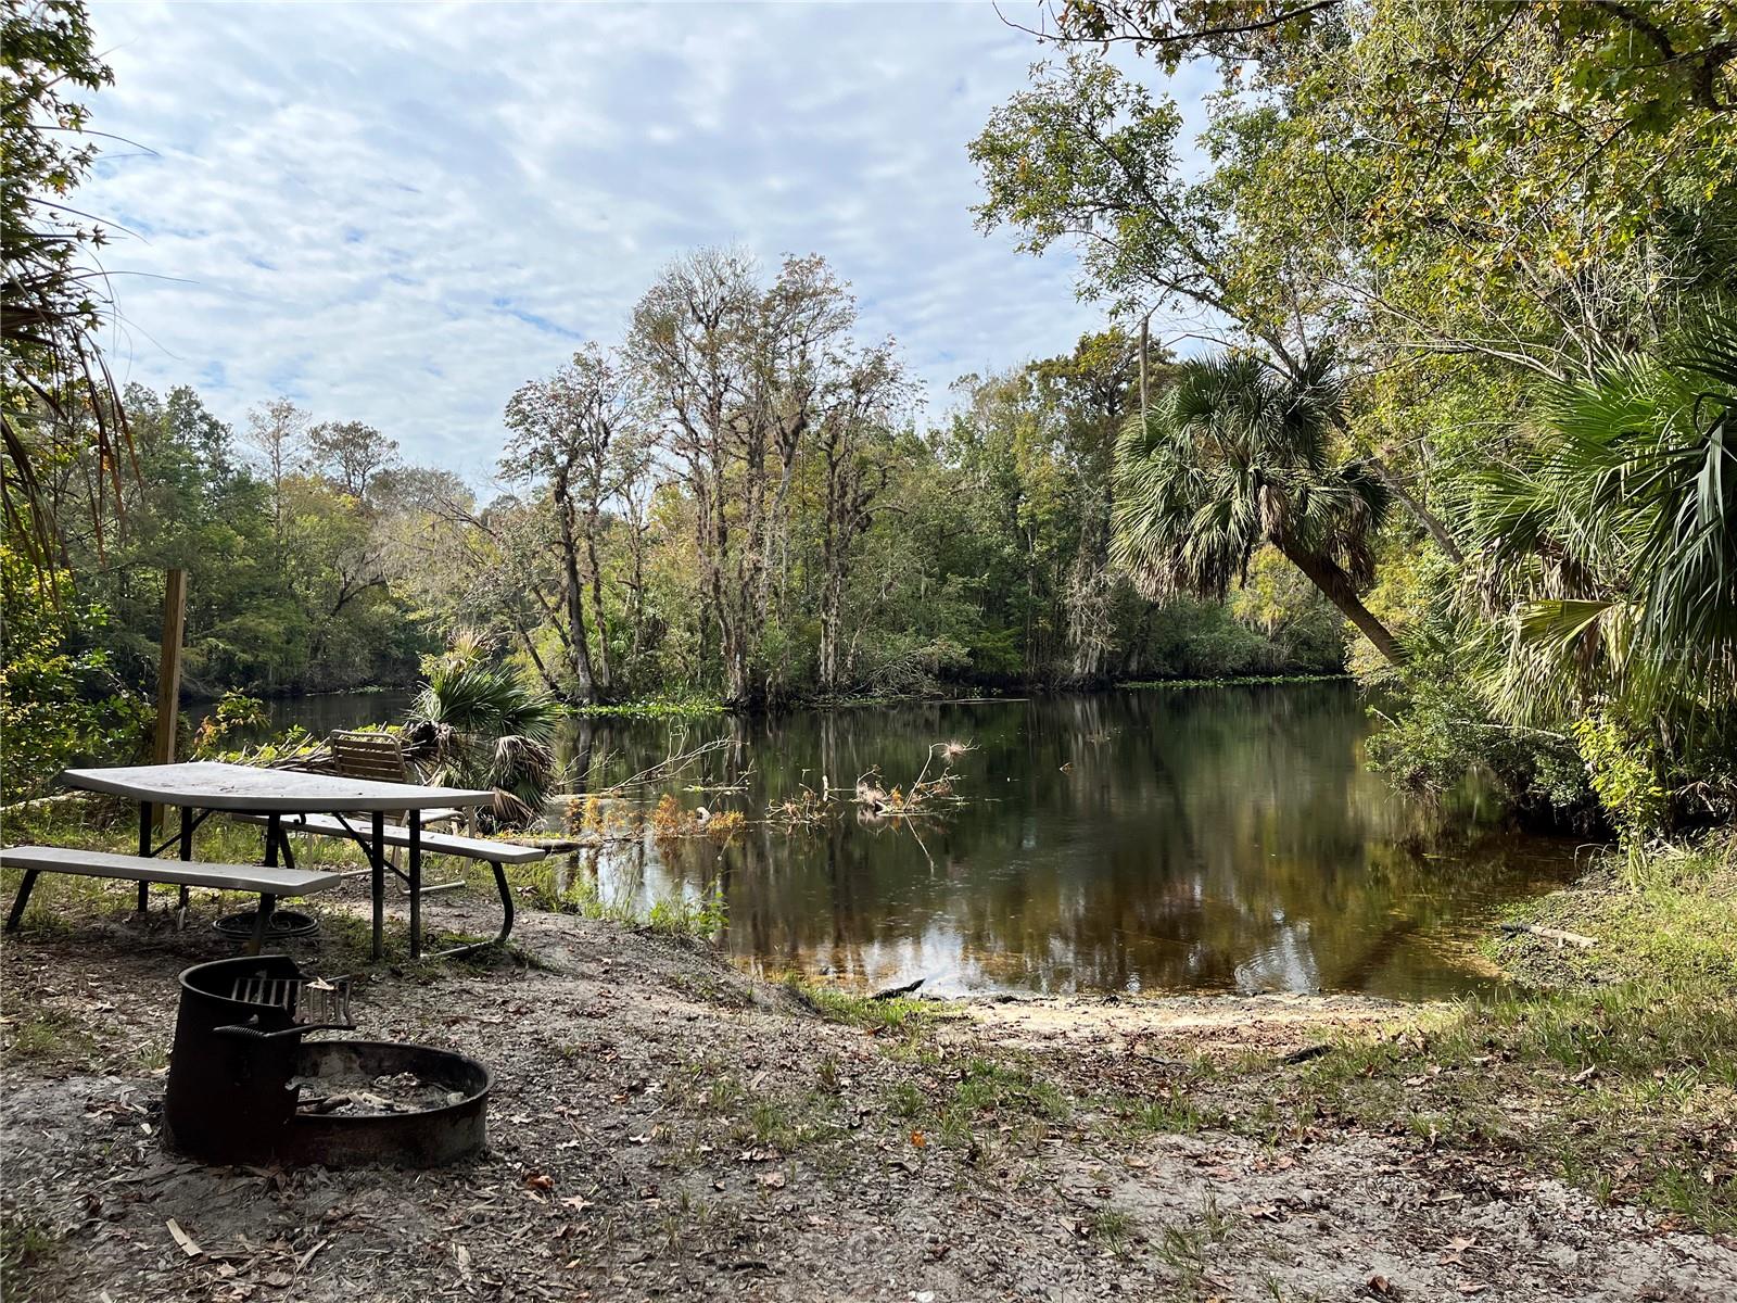
M 1542 426 L 1471 497 L 1511 615 L 1490 695 L 1716 724 L 1737 705 L 1737 320 L 1555 386 Z

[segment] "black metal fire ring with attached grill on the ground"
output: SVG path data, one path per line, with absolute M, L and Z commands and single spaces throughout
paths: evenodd
M 181 975 L 163 1107 L 168 1141 L 207 1162 L 436 1167 L 488 1141 L 488 1068 L 349 1030 L 349 983 L 307 982 L 288 956 Z

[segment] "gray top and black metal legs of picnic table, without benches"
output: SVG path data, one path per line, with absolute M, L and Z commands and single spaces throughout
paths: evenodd
M 337 830 L 351 837 L 368 855 L 373 895 L 373 957 L 384 954 L 386 928 L 386 848 L 403 846 L 405 876 L 410 886 L 410 954 L 422 954 L 422 853 L 424 848 L 445 850 L 441 839 L 424 836 L 422 811 L 455 806 L 479 806 L 495 799 L 493 792 L 464 787 L 424 787 L 420 784 L 379 782 L 372 778 L 344 778 L 302 770 L 267 770 L 252 764 L 226 764 L 221 761 L 189 761 L 181 764 L 130 764 L 101 770 L 66 770 L 61 782 L 89 792 L 108 792 L 139 803 L 139 855 L 155 858 L 170 846 L 181 860 L 193 860 L 193 834 L 215 813 L 236 815 L 266 825 L 266 865 L 274 869 L 280 855 L 294 869 L 288 830 L 306 825 L 309 818 L 323 818 L 320 832 Z M 181 811 L 179 830 L 155 846 L 153 806 L 175 806 Z M 403 825 L 387 832 L 387 813 L 401 815 Z M 325 818 L 330 817 L 330 818 Z M 353 822 L 354 820 L 354 822 Z M 391 843 L 389 843 L 391 836 Z M 505 848 L 502 848 L 505 853 Z M 481 858 L 481 857 L 472 857 Z M 509 857 L 511 858 L 511 857 Z M 500 865 L 495 865 L 502 884 L 502 903 L 509 910 Z M 167 879 L 174 881 L 174 879 Z M 139 881 L 139 909 L 146 905 L 148 881 Z M 182 902 L 186 886 L 182 886 Z M 17 912 L 23 912 L 19 902 Z M 271 896 L 261 898 L 261 919 L 255 936 L 269 923 Z M 505 933 L 502 933 L 505 935 Z

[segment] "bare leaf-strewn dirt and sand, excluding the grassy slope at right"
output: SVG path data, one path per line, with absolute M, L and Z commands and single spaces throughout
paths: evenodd
M 1176 1112 L 1202 1053 L 1308 1051 L 1393 1006 L 1016 999 L 900 1022 L 530 910 L 511 959 L 358 983 L 358 1035 L 490 1063 L 483 1157 L 203 1167 L 160 1143 L 163 1060 L 175 971 L 228 950 L 172 917 L 5 945 L 9 1300 L 1737 1298 L 1737 1246 L 1555 1181 L 1423 1138 L 1324 1124 L 1271 1148 Z M 321 971 L 318 942 L 299 954 Z

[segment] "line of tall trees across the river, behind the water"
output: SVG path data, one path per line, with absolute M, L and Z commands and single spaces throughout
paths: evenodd
M 709 330 L 670 306 L 695 299 L 716 306 Z M 1134 342 L 1108 330 L 966 377 L 924 429 L 896 351 L 855 344 L 820 259 L 766 278 L 700 252 L 624 347 L 511 396 L 495 492 L 283 398 L 233 429 L 191 387 L 134 386 L 137 476 L 92 519 L 76 462 L 47 483 L 76 575 L 61 650 L 144 691 L 162 575 L 182 566 L 195 695 L 408 686 L 457 631 L 570 704 L 1343 667 L 1343 622 L 1278 558 L 1228 608 L 1150 601 L 1112 566 L 1136 374 Z M 16 552 L 7 584 L 28 608 Z

